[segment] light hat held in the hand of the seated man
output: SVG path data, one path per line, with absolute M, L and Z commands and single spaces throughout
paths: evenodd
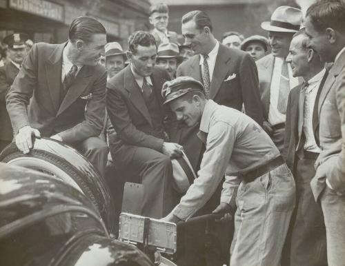
M 193 184 L 197 175 L 184 152 L 182 152 L 181 157 L 172 159 L 171 164 L 172 177 L 174 180 L 172 184 L 177 192 L 185 193 L 188 187 Z

